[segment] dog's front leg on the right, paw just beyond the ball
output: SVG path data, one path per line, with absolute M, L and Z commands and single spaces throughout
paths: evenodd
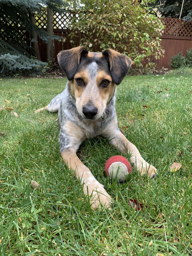
M 116 120 L 113 122 L 114 125 L 110 125 L 102 136 L 108 140 L 109 144 L 113 145 L 123 154 L 127 155 L 131 153 L 130 160 L 142 175 L 147 174 L 149 177 L 154 178 L 157 172 L 156 168 L 153 165 L 148 164 L 139 153 L 137 147 L 128 141 L 120 130 L 116 128 Z

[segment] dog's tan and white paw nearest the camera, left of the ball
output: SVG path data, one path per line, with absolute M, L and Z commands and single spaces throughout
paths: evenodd
M 91 208 L 101 209 L 102 206 L 111 209 L 112 198 L 106 192 L 103 185 L 101 185 L 97 180 L 88 183 L 87 186 L 83 186 L 84 193 L 89 195 L 89 201 Z

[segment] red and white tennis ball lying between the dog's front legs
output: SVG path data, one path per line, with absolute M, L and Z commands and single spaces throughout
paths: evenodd
M 112 156 L 105 163 L 105 173 L 108 177 L 118 179 L 119 182 L 126 180 L 131 173 L 131 164 L 123 156 Z

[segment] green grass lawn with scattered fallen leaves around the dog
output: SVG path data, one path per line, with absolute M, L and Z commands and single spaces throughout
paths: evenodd
M 100 137 L 82 143 L 78 156 L 113 197 L 112 211 L 93 211 L 63 164 L 57 114 L 34 114 L 65 83 L 0 79 L 0 107 L 14 108 L 0 110 L 0 255 L 191 255 L 192 77 L 127 76 L 118 86 L 119 127 L 158 168 L 156 180 L 143 185 L 133 169 L 125 183 L 111 181 L 104 164 L 119 153 Z M 182 168 L 170 173 L 174 161 Z

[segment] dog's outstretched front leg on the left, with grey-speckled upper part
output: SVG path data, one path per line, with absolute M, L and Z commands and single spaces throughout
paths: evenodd
M 89 195 L 91 207 L 101 208 L 102 204 L 106 208 L 111 208 L 112 198 L 76 155 L 77 149 L 85 138 L 81 127 L 71 121 L 65 121 L 59 134 L 61 156 L 66 165 L 75 171 L 77 179 L 83 186 L 84 194 Z

